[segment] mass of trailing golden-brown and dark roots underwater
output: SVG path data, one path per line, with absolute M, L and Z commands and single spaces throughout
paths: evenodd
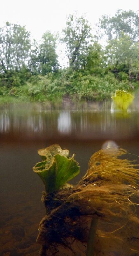
M 40 256 L 46 256 L 47 250 L 54 255 L 58 245 L 72 251 L 73 241 L 87 244 L 91 219 L 118 222 L 117 230 L 123 220 L 139 224 L 139 170 L 121 159 L 123 154 L 126 150 L 102 149 L 92 155 L 87 173 L 77 185 L 43 193 L 47 215 L 39 225 Z

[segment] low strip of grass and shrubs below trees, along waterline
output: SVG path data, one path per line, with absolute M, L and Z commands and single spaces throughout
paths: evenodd
M 67 70 L 45 76 L 31 76 L 23 85 L 0 86 L 0 103 L 8 102 L 61 102 L 64 95 L 73 100 L 108 100 L 116 89 L 134 92 L 139 81 L 117 79 L 113 73 L 95 76 Z

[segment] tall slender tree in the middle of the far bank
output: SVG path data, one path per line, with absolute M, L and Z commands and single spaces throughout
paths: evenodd
M 66 44 L 66 56 L 73 69 L 86 68 L 88 47 L 92 35 L 88 21 L 81 16 L 69 15 L 61 41 Z

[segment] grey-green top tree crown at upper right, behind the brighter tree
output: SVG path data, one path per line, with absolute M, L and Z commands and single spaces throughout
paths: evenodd
M 103 15 L 99 21 L 101 36 L 107 35 L 108 40 L 118 38 L 121 33 L 129 35 L 133 41 L 139 41 L 139 15 L 129 10 L 118 10 L 115 16 Z

